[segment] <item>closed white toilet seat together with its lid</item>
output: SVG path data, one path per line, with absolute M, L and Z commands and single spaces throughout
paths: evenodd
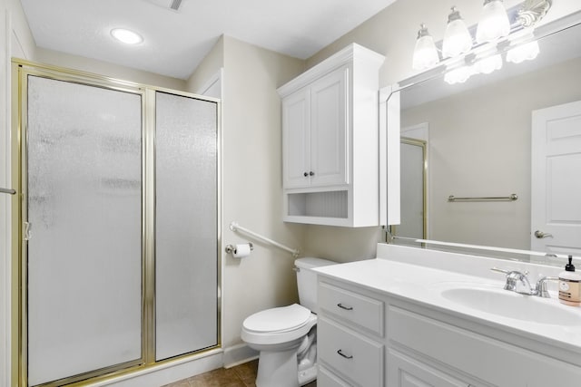
M 244 320 L 241 339 L 254 344 L 291 344 L 308 334 L 316 323 L 317 315 L 304 306 L 293 304 L 271 308 L 252 314 Z

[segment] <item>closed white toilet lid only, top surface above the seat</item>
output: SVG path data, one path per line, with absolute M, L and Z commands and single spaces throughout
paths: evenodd
M 305 324 L 309 317 L 309 309 L 293 304 L 252 314 L 244 320 L 242 325 L 245 329 L 254 332 L 290 331 Z

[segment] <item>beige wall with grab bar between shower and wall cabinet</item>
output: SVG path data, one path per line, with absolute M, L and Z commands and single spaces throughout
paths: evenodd
M 224 347 L 241 343 L 241 324 L 248 315 L 297 301 L 292 256 L 233 233 L 229 225 L 237 221 L 285 245 L 301 246 L 303 227 L 282 222 L 276 89 L 303 69 L 303 61 L 223 37 L 222 247 L 248 240 L 254 244 L 250 257 L 222 256 Z

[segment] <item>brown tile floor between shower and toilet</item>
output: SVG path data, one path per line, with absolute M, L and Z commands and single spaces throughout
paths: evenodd
M 258 360 L 254 360 L 232 368 L 205 372 L 164 387 L 255 387 L 257 371 Z M 317 382 L 310 382 L 305 387 L 317 387 Z

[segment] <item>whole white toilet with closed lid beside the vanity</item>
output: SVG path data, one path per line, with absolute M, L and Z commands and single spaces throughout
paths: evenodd
M 297 387 L 317 378 L 317 273 L 314 267 L 335 265 L 327 259 L 294 261 L 300 305 L 271 308 L 242 323 L 241 338 L 260 352 L 257 387 Z

